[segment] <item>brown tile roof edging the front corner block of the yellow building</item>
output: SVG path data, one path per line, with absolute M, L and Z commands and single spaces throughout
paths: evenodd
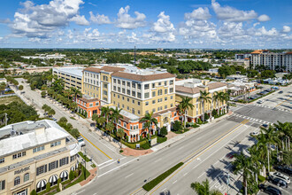
M 125 72 L 116 72 L 114 74 L 111 74 L 111 76 L 130 79 L 130 80 L 134 80 L 138 82 L 148 82 L 148 81 L 153 81 L 153 80 L 175 77 L 174 74 L 170 74 L 170 73 L 141 75 L 141 74 L 130 74 L 130 73 L 125 73 Z

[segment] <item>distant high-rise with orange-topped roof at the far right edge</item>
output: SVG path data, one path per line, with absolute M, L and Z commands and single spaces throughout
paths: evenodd
M 292 71 L 292 52 L 274 53 L 270 51 L 253 51 L 251 52 L 250 63 L 255 67 L 257 65 L 268 66 L 269 69 L 275 70 L 277 66 L 286 72 Z

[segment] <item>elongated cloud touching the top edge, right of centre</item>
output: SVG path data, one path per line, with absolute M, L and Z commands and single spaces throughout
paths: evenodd
M 241 11 L 229 6 L 221 7 L 216 0 L 211 1 L 211 7 L 219 20 L 242 22 L 257 19 L 257 12 L 253 10 Z

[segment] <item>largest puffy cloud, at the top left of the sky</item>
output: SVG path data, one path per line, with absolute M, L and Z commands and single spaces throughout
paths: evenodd
M 71 20 L 84 25 L 85 18 L 78 15 L 81 4 L 84 4 L 82 0 L 52 0 L 40 5 L 26 1 L 21 3 L 23 9 L 15 12 L 10 27 L 16 35 L 48 37 L 50 32 L 67 26 Z

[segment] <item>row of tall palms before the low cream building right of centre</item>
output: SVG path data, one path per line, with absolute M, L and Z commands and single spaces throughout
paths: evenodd
M 213 99 L 216 102 L 216 107 L 218 108 L 218 114 L 219 114 L 219 103 L 221 103 L 221 105 L 224 104 L 224 102 L 229 101 L 230 97 L 230 92 L 215 92 L 214 95 L 211 98 L 211 93 L 207 92 L 206 90 L 202 91 L 200 90 L 200 97 L 198 98 L 198 101 L 201 103 L 202 106 L 202 121 L 205 121 L 205 105 L 211 104 L 211 100 Z M 193 109 L 194 105 L 191 102 L 193 98 L 188 98 L 188 97 L 181 97 L 181 102 L 180 104 L 177 106 L 178 108 L 178 112 L 180 115 L 184 115 L 184 127 L 186 128 L 186 122 L 187 120 L 187 112 L 188 109 Z M 228 106 L 227 106 L 227 112 L 228 112 Z

